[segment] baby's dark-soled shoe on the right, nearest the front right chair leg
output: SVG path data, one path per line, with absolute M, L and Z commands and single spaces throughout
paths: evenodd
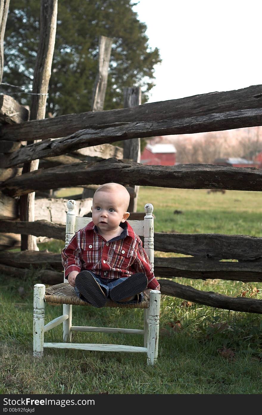
M 132 295 L 140 294 L 147 288 L 147 277 L 145 274 L 137 273 L 128 277 L 123 283 L 118 284 L 110 291 L 113 301 L 124 300 Z

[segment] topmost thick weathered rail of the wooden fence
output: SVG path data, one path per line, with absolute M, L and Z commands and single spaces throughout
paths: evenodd
M 192 97 L 180 98 L 176 100 L 147 103 L 132 108 L 120 110 L 83 112 L 80 114 L 61 115 L 55 118 L 24 122 L 20 125 L 3 125 L 0 137 L 11 141 L 34 140 L 36 137 L 41 140 L 49 138 L 63 137 L 65 131 L 74 134 L 82 129 L 102 129 L 110 127 L 116 123 L 126 124 L 134 122 L 158 122 L 163 120 L 184 120 L 177 125 L 177 132 L 166 132 L 164 134 L 185 134 L 190 132 L 200 132 L 201 123 L 206 122 L 206 128 L 202 131 L 216 131 L 241 127 L 252 127 L 261 125 L 261 118 L 257 118 L 252 111 L 246 114 L 246 118 L 241 117 L 241 110 L 262 109 L 262 85 L 252 85 L 248 88 L 212 92 L 209 94 L 194 95 Z M 219 121 L 219 114 L 231 113 L 228 120 Z M 234 115 L 234 112 L 236 114 Z M 212 114 L 217 114 L 217 118 L 209 121 Z M 207 117 L 205 117 L 207 116 Z M 198 122 L 198 127 L 192 131 L 191 120 L 197 117 L 204 117 Z M 240 118 L 239 122 L 238 117 Z M 254 118 L 255 117 L 255 120 Z M 188 119 L 190 122 L 186 122 Z M 223 116 L 222 116 L 223 119 Z M 183 126 L 184 125 L 184 126 Z M 134 126 L 134 124 L 133 124 Z M 204 126 L 203 126 L 204 128 Z M 150 131 L 149 131 L 150 132 Z M 154 135 L 154 134 L 152 134 Z M 142 136 L 141 136 L 142 137 Z M 149 137 L 149 135 L 147 136 Z M 133 138 L 133 137 L 129 137 Z M 117 140 L 115 140 L 117 141 Z M 99 144 L 99 143 L 97 143 Z

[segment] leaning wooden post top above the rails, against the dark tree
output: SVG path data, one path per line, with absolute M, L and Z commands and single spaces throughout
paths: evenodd
M 112 43 L 113 39 L 110 37 L 99 36 L 98 72 L 93 90 L 92 111 L 103 111 Z

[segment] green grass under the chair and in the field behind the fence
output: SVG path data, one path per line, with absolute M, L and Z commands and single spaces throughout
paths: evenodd
M 144 188 L 138 210 L 154 205 L 156 232 L 225 233 L 262 236 L 259 192 Z M 181 214 L 174 214 L 181 210 Z M 63 243 L 40 248 L 59 252 Z M 168 254 L 157 252 L 157 256 Z M 220 310 L 161 296 L 159 359 L 146 365 L 144 354 L 45 349 L 32 357 L 31 270 L 24 279 L 0 279 L 0 393 L 47 394 L 260 394 L 262 364 L 261 315 Z M 177 279 L 204 291 L 262 298 L 261 283 Z M 19 294 L 19 287 L 24 294 Z M 254 290 L 257 288 L 259 291 Z M 62 314 L 62 306 L 46 304 L 47 321 Z M 74 325 L 142 327 L 140 310 L 75 307 Z M 88 323 L 87 323 L 88 321 Z M 46 341 L 62 338 L 62 325 Z M 127 334 L 73 333 L 73 342 L 142 345 L 142 337 Z

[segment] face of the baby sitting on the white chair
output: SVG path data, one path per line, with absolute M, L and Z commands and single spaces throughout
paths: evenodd
M 92 220 L 101 232 L 117 230 L 128 215 L 121 192 L 97 192 L 93 198 Z M 126 217 L 127 216 L 127 217 Z

